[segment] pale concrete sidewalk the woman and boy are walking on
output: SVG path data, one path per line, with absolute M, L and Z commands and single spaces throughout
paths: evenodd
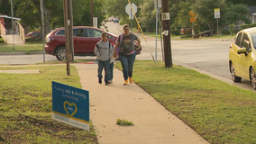
M 140 86 L 123 85 L 123 73 L 117 68 L 114 83 L 100 85 L 96 64 L 75 66 L 82 88 L 89 91 L 90 120 L 100 144 L 208 144 Z M 116 119 L 134 125 L 119 126 Z

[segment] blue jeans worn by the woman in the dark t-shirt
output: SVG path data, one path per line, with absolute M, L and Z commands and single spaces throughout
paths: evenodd
M 133 63 L 135 61 L 135 58 L 136 58 L 136 52 L 134 52 L 132 55 L 124 55 L 122 52 L 120 52 L 119 59 L 123 67 L 124 80 L 127 80 L 128 76 L 129 77 L 133 76 Z

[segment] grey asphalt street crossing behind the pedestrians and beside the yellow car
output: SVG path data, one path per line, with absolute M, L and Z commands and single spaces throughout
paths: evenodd
M 108 31 L 118 36 L 123 32 L 123 27 L 119 23 L 106 23 Z M 144 40 L 141 33 L 134 33 L 142 40 L 142 54 L 137 55 L 139 60 L 152 60 L 155 57 L 156 38 L 147 37 Z M 233 40 L 171 40 L 171 55 L 174 64 L 182 63 L 189 67 L 206 71 L 210 74 L 220 76 L 232 85 L 242 86 L 252 90 L 249 81 L 242 79 L 241 84 L 234 84 L 228 66 L 229 45 Z M 158 40 L 157 60 L 162 60 L 160 40 Z M 152 55 L 152 56 L 151 56 Z M 96 61 L 96 57 L 75 57 L 75 59 L 87 59 Z M 45 61 L 57 60 L 55 56 L 45 55 Z M 18 65 L 42 63 L 43 55 L 1 55 L 0 64 Z

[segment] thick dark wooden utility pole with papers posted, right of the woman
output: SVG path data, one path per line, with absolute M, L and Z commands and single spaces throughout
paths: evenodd
M 161 8 L 165 67 L 172 67 L 169 31 L 169 0 L 161 0 Z

